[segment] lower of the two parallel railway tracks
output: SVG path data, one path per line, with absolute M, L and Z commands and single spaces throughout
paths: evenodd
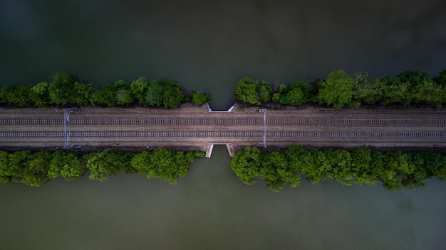
M 71 131 L 71 139 L 107 138 L 262 138 L 264 131 Z M 0 139 L 51 139 L 64 137 L 63 131 L 0 131 Z M 267 140 L 327 140 L 327 139 L 392 139 L 395 141 L 445 141 L 446 131 L 267 131 Z

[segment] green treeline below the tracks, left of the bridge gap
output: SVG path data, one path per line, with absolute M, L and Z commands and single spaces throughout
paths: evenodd
M 66 180 L 89 173 L 90 180 L 108 180 L 122 171 L 161 178 L 175 184 L 185 177 L 195 158 L 203 152 L 170 151 L 157 148 L 140 153 L 107 149 L 93 153 L 67 151 L 0 151 L 0 182 L 25 183 L 33 187 L 62 176 Z

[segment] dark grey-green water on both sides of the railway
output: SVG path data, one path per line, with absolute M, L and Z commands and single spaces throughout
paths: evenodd
M 232 104 L 244 75 L 445 67 L 444 1 L 0 2 L 0 85 L 57 69 L 96 85 L 169 77 Z M 445 249 L 446 183 L 390 192 L 323 181 L 243 185 L 226 148 L 171 186 L 120 174 L 0 185 L 1 249 Z

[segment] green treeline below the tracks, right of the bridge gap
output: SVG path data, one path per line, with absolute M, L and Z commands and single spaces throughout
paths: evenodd
M 311 183 L 332 179 L 343 185 L 373 184 L 380 181 L 388 190 L 424 186 L 424 180 L 446 178 L 446 156 L 432 152 L 378 152 L 366 148 L 353 151 L 307 151 L 290 146 L 286 151 L 244 148 L 231 159 L 234 173 L 247 185 L 266 179 L 269 190 L 279 191 L 286 183 L 296 187 L 305 175 Z

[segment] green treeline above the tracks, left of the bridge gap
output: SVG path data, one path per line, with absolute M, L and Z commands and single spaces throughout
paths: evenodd
M 199 106 L 210 99 L 207 93 L 192 91 L 185 94 L 178 82 L 166 78 L 146 82 L 144 77 L 140 77 L 132 82 L 119 80 L 95 88 L 93 84 L 62 71 L 53 73 L 49 82 L 24 87 L 5 85 L 0 91 L 0 104 L 19 107 L 47 107 L 50 104 L 115 107 L 139 104 L 143 107 L 175 108 L 182 102 Z

